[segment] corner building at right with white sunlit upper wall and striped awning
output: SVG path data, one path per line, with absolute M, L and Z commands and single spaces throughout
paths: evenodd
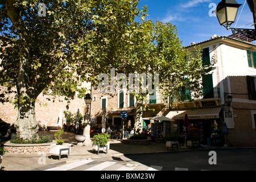
M 193 129 L 203 131 L 199 133 L 204 138 L 202 144 L 256 146 L 256 44 L 214 36 L 186 48 L 193 52 L 195 46 L 203 49 L 203 61 L 214 58 L 214 69 L 205 79 L 200 98 L 174 102 L 167 115 L 182 127 L 181 119 L 187 113 Z M 192 97 L 193 90 L 188 92 Z

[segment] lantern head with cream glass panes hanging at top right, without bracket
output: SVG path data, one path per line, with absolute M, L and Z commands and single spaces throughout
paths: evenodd
M 237 11 L 241 4 L 235 0 L 222 0 L 218 3 L 216 15 L 221 26 L 230 28 L 230 25 L 236 21 Z

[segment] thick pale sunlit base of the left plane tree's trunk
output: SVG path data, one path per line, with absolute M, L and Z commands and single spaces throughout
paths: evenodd
M 36 134 L 39 122 L 35 118 L 35 101 L 19 106 L 18 119 L 14 122 L 18 134 Z

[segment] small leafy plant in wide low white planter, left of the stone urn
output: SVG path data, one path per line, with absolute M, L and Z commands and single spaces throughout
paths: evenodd
M 56 139 L 55 144 L 51 144 L 49 153 L 51 155 L 62 155 L 62 154 L 69 154 L 71 152 L 71 144 L 70 143 L 64 143 L 64 141 L 61 138 L 61 135 L 64 133 L 63 130 L 58 131 L 54 137 Z M 68 148 L 68 150 L 64 150 Z M 63 151 L 60 151 L 63 149 Z

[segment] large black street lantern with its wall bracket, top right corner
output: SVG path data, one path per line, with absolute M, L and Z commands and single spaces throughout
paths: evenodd
M 253 18 L 255 21 L 254 15 L 254 2 L 253 0 L 247 0 L 247 3 L 253 13 Z M 216 8 L 216 15 L 218 18 L 218 22 L 221 26 L 226 27 L 227 30 L 232 30 L 233 34 L 240 32 L 241 34 L 245 35 L 247 38 L 256 39 L 256 32 L 255 29 L 247 29 L 247 28 L 230 28 L 231 24 L 235 22 L 238 8 L 241 4 L 238 4 L 235 0 L 222 0 L 218 3 Z M 255 25 L 256 26 L 256 25 Z

